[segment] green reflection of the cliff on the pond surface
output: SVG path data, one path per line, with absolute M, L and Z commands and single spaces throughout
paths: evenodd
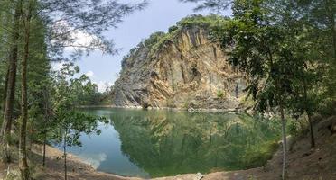
M 246 115 L 132 111 L 110 118 L 123 153 L 153 176 L 260 165 L 279 134 L 277 122 Z

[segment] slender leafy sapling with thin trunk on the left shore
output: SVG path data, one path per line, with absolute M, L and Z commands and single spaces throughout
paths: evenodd
M 80 146 L 81 133 L 100 133 L 97 129 L 98 121 L 94 116 L 78 112 L 78 98 L 80 95 L 73 94 L 79 88 L 77 78 L 73 76 L 79 73 L 79 67 L 72 63 L 65 64 L 59 73 L 54 76 L 54 121 L 51 123 L 52 139 L 57 144 L 62 144 L 64 154 L 64 178 L 67 180 L 67 147 Z M 81 77 L 79 77 L 80 79 Z M 82 85 L 82 87 L 85 85 Z

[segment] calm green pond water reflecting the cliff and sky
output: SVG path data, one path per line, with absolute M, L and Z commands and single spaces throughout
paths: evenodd
M 83 110 L 105 116 L 102 133 L 68 151 L 107 173 L 157 177 L 261 166 L 280 139 L 275 120 L 244 114 L 129 109 Z

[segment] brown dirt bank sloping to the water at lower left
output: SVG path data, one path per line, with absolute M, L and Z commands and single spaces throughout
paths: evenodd
M 46 168 L 42 167 L 42 146 L 33 145 L 33 179 L 36 180 L 61 180 L 64 179 L 64 160 L 62 152 L 57 148 L 46 148 Z M 84 163 L 79 157 L 69 154 L 67 156 L 68 180 L 126 180 L 139 178 L 122 177 L 96 171 L 89 164 Z M 31 163 L 30 163 L 31 164 Z M 9 168 L 8 168 L 9 167 Z M 5 179 L 7 171 L 10 170 L 9 179 L 18 179 L 18 166 L 16 164 L 4 165 L 0 163 L 0 180 Z M 14 176 L 14 177 L 13 177 Z

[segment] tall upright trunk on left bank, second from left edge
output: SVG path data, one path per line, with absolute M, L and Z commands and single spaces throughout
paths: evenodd
M 27 163 L 27 122 L 28 122 L 28 93 L 27 93 L 27 66 L 29 58 L 29 39 L 30 39 L 30 21 L 31 5 L 28 7 L 28 14 L 23 17 L 24 23 L 24 55 L 22 60 L 22 79 L 21 79 L 21 126 L 19 141 L 19 168 L 22 180 L 29 180 L 29 167 Z

